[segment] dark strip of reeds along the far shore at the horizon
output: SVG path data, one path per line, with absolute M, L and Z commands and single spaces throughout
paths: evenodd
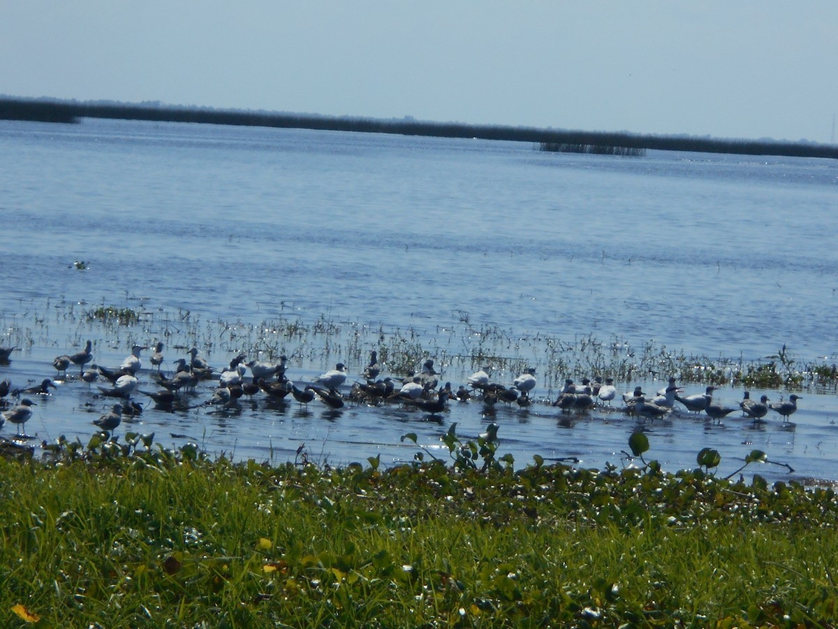
M 84 117 L 393 133 L 437 138 L 508 140 L 535 143 L 541 150 L 551 150 L 547 147 L 563 147 L 567 151 L 575 147 L 587 147 L 582 151 L 585 153 L 632 155 L 638 151 L 654 149 L 697 153 L 838 158 L 838 146 L 820 143 L 584 132 L 534 127 L 468 125 L 458 122 L 422 122 L 411 119 L 327 117 L 263 111 L 216 110 L 209 107 L 172 107 L 156 103 L 135 105 L 110 101 L 0 98 L 0 119 L 72 123 L 80 122 L 80 119 Z M 599 150 L 592 150 L 592 147 L 597 147 Z M 614 150 L 608 150 L 611 148 Z

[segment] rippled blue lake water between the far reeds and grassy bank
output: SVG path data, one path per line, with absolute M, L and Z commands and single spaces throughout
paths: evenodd
M 455 388 L 483 361 L 507 384 L 535 366 L 544 400 L 564 379 L 562 344 L 586 339 L 628 362 L 644 346 L 745 362 L 786 346 L 798 364 L 838 361 L 833 160 L 613 158 L 527 143 L 85 119 L 0 121 L 0 172 L 0 345 L 22 348 L 0 378 L 13 387 L 54 377 L 54 356 L 88 338 L 105 366 L 133 342 L 163 340 L 168 368 L 196 345 L 218 367 L 238 351 L 285 353 L 298 382 L 344 361 L 347 384 L 382 342 L 421 347 Z M 101 306 L 135 309 L 140 323 L 85 315 Z M 77 373 L 36 400 L 26 425 L 34 443 L 59 434 L 86 443 L 91 418 L 110 406 Z M 668 375 L 644 367 L 618 388 L 655 391 Z M 147 368 L 141 387 L 153 388 Z M 149 406 L 117 434 L 153 431 L 164 445 L 187 434 L 238 459 L 292 460 L 305 444 L 313 460 L 391 464 L 418 450 L 403 434 L 447 456 L 438 437 L 453 422 L 473 438 L 494 421 L 499 453 L 516 466 L 538 454 L 602 467 L 629 464 L 623 450 L 638 429 L 623 413 L 568 419 L 546 404 L 494 413 L 452 404 L 440 423 L 391 404 L 334 412 L 264 397 L 218 412 L 201 405 L 211 390 L 202 384 L 192 408 L 174 413 Z M 763 476 L 838 480 L 838 398 L 815 387 L 799 394 L 789 424 L 776 413 L 757 426 L 739 413 L 721 425 L 675 413 L 644 427 L 649 456 L 677 470 L 715 447 L 728 474 L 761 449 L 795 470 L 763 465 Z M 735 405 L 742 389 L 716 398 Z

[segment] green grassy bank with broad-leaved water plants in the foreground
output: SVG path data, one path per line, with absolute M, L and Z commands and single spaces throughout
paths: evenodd
M 453 433 L 453 431 L 452 431 Z M 450 435 L 449 435 L 450 436 Z M 0 458 L 0 623 L 796 626 L 838 614 L 830 489 L 654 465 L 380 469 L 138 436 Z M 152 438 L 146 438 L 150 444 Z M 463 446 L 466 449 L 463 450 Z M 468 464 L 488 460 L 490 465 Z M 31 614 L 31 616 L 28 616 Z

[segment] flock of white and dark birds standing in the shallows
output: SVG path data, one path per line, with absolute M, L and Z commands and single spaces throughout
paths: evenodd
M 56 356 L 53 366 L 59 375 L 68 378 L 67 370 L 70 366 L 79 367 L 79 379 L 93 384 L 94 382 L 109 382 L 109 386 L 96 384 L 98 394 L 106 398 L 118 398 L 108 413 L 93 421 L 100 429 L 111 433 L 122 422 L 124 416 L 136 416 L 143 411 L 143 405 L 133 398 L 137 392 L 150 398 L 156 408 L 171 409 L 183 400 L 183 392 L 194 392 L 201 381 L 216 381 L 217 386 L 210 398 L 199 406 L 209 405 L 222 409 L 236 408 L 239 399 L 247 396 L 253 398 L 257 394 L 264 394 L 273 400 L 284 400 L 291 396 L 300 404 L 312 403 L 318 398 L 329 408 L 343 408 L 345 403 L 379 404 L 385 402 L 402 403 L 416 407 L 432 416 L 442 413 L 449 400 L 466 403 L 471 399 L 480 399 L 486 407 L 494 407 L 496 403 L 517 404 L 521 408 L 530 406 L 533 399 L 530 392 L 535 388 L 535 369 L 530 368 L 516 377 L 510 385 L 492 382 L 489 368 L 484 367 L 473 373 L 465 384 L 453 390 L 451 382 L 440 385 L 439 373 L 434 369 L 433 360 L 422 364 L 419 372 L 411 372 L 406 377 L 379 378 L 382 371 L 377 358 L 377 352 L 370 353 L 370 362 L 361 372 L 361 379 L 349 387 L 344 394 L 348 370 L 344 363 L 339 362 L 334 369 L 320 374 L 302 388 L 288 379 L 286 375 L 286 356 L 280 356 L 278 362 L 247 361 L 244 354 L 235 356 L 223 369 L 216 370 L 201 356 L 196 348 L 189 351 L 189 357 L 181 357 L 173 361 L 175 365 L 170 375 L 165 375 L 161 369 L 164 364 L 163 343 L 158 342 L 149 357 L 152 369 L 147 370 L 150 379 L 158 385 L 156 391 L 146 391 L 139 387 L 137 374 L 142 368 L 141 353 L 148 350 L 147 346 L 132 346 L 132 352 L 122 361 L 120 366 L 109 369 L 96 365 L 91 352 L 92 343 L 87 341 L 84 350 L 73 354 Z M 11 353 L 16 347 L 0 346 L 0 364 L 9 364 Z M 251 377 L 247 377 L 250 370 Z M 75 377 L 74 377 L 75 378 Z M 32 407 L 37 404 L 30 397 L 50 394 L 55 384 L 49 378 L 44 378 L 39 384 L 13 388 L 8 378 L 0 381 L 0 408 L 5 408 L 0 415 L 0 427 L 5 422 L 25 429 L 25 424 L 32 417 Z M 642 387 L 635 387 L 634 391 L 626 392 L 619 398 L 623 402 L 623 412 L 636 415 L 639 418 L 663 418 L 673 411 L 675 403 L 682 405 L 688 412 L 706 413 L 715 421 L 721 421 L 730 413 L 742 410 L 745 416 L 754 421 L 763 418 L 772 410 L 788 421 L 797 410 L 798 395 L 791 395 L 787 401 L 770 403 L 763 395 L 758 401 L 751 399 L 746 391 L 744 398 L 737 407 L 727 406 L 713 399 L 716 387 L 706 387 L 705 392 L 695 395 L 682 396 L 682 390 L 676 384 L 675 377 L 670 377 L 667 387 L 657 394 L 647 396 Z M 11 395 L 17 402 L 7 402 Z M 25 397 L 24 397 L 25 396 Z M 594 377 L 582 380 L 581 385 L 568 379 L 558 398 L 552 406 L 560 408 L 562 413 L 573 411 L 584 412 L 597 405 L 611 406 L 618 399 L 617 388 L 613 378 Z M 186 408 L 190 408 L 187 406 Z M 25 436 L 25 435 L 24 435 Z

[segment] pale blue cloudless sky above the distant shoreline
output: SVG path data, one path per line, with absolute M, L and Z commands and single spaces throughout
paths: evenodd
M 838 1 L 0 0 L 0 94 L 835 142 Z

